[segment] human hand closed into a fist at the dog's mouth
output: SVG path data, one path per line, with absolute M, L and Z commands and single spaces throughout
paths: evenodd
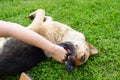
M 65 59 L 66 59 L 66 54 L 67 54 L 67 51 L 63 48 L 63 47 L 60 47 L 60 46 L 55 46 L 53 48 L 53 52 L 51 53 L 51 56 L 56 60 L 56 61 L 59 61 L 59 62 L 63 62 Z

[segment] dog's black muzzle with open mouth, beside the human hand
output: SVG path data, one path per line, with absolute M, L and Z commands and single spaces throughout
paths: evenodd
M 75 47 L 71 42 L 60 43 L 59 45 L 62 46 L 68 52 L 65 60 L 65 68 L 68 72 L 71 72 L 75 66 L 74 62 L 74 56 L 76 53 Z

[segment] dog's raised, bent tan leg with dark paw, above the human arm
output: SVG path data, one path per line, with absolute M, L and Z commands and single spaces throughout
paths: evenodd
M 27 27 L 37 33 L 42 34 L 44 32 L 43 21 L 45 18 L 45 11 L 38 9 L 29 15 L 30 19 L 33 19 L 32 23 Z

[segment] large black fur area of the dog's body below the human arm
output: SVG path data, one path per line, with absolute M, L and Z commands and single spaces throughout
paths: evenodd
M 20 74 L 45 59 L 42 49 L 14 38 L 9 39 L 0 53 L 0 76 Z

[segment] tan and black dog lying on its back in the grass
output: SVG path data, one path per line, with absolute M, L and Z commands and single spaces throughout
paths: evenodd
M 35 11 L 30 15 L 30 18 L 34 18 L 34 20 L 28 26 L 29 29 L 55 44 L 63 43 L 62 46 L 65 48 L 72 45 L 73 51 L 68 50 L 68 52 L 75 52 L 75 54 L 70 54 L 71 56 L 67 58 L 66 67 L 68 70 L 70 68 L 71 71 L 73 65 L 81 65 L 86 62 L 91 54 L 97 54 L 97 50 L 85 41 L 82 33 L 46 17 L 43 10 Z M 0 42 L 0 76 L 16 75 L 46 58 L 43 50 L 14 38 Z M 66 44 L 66 42 L 70 42 L 70 44 Z

